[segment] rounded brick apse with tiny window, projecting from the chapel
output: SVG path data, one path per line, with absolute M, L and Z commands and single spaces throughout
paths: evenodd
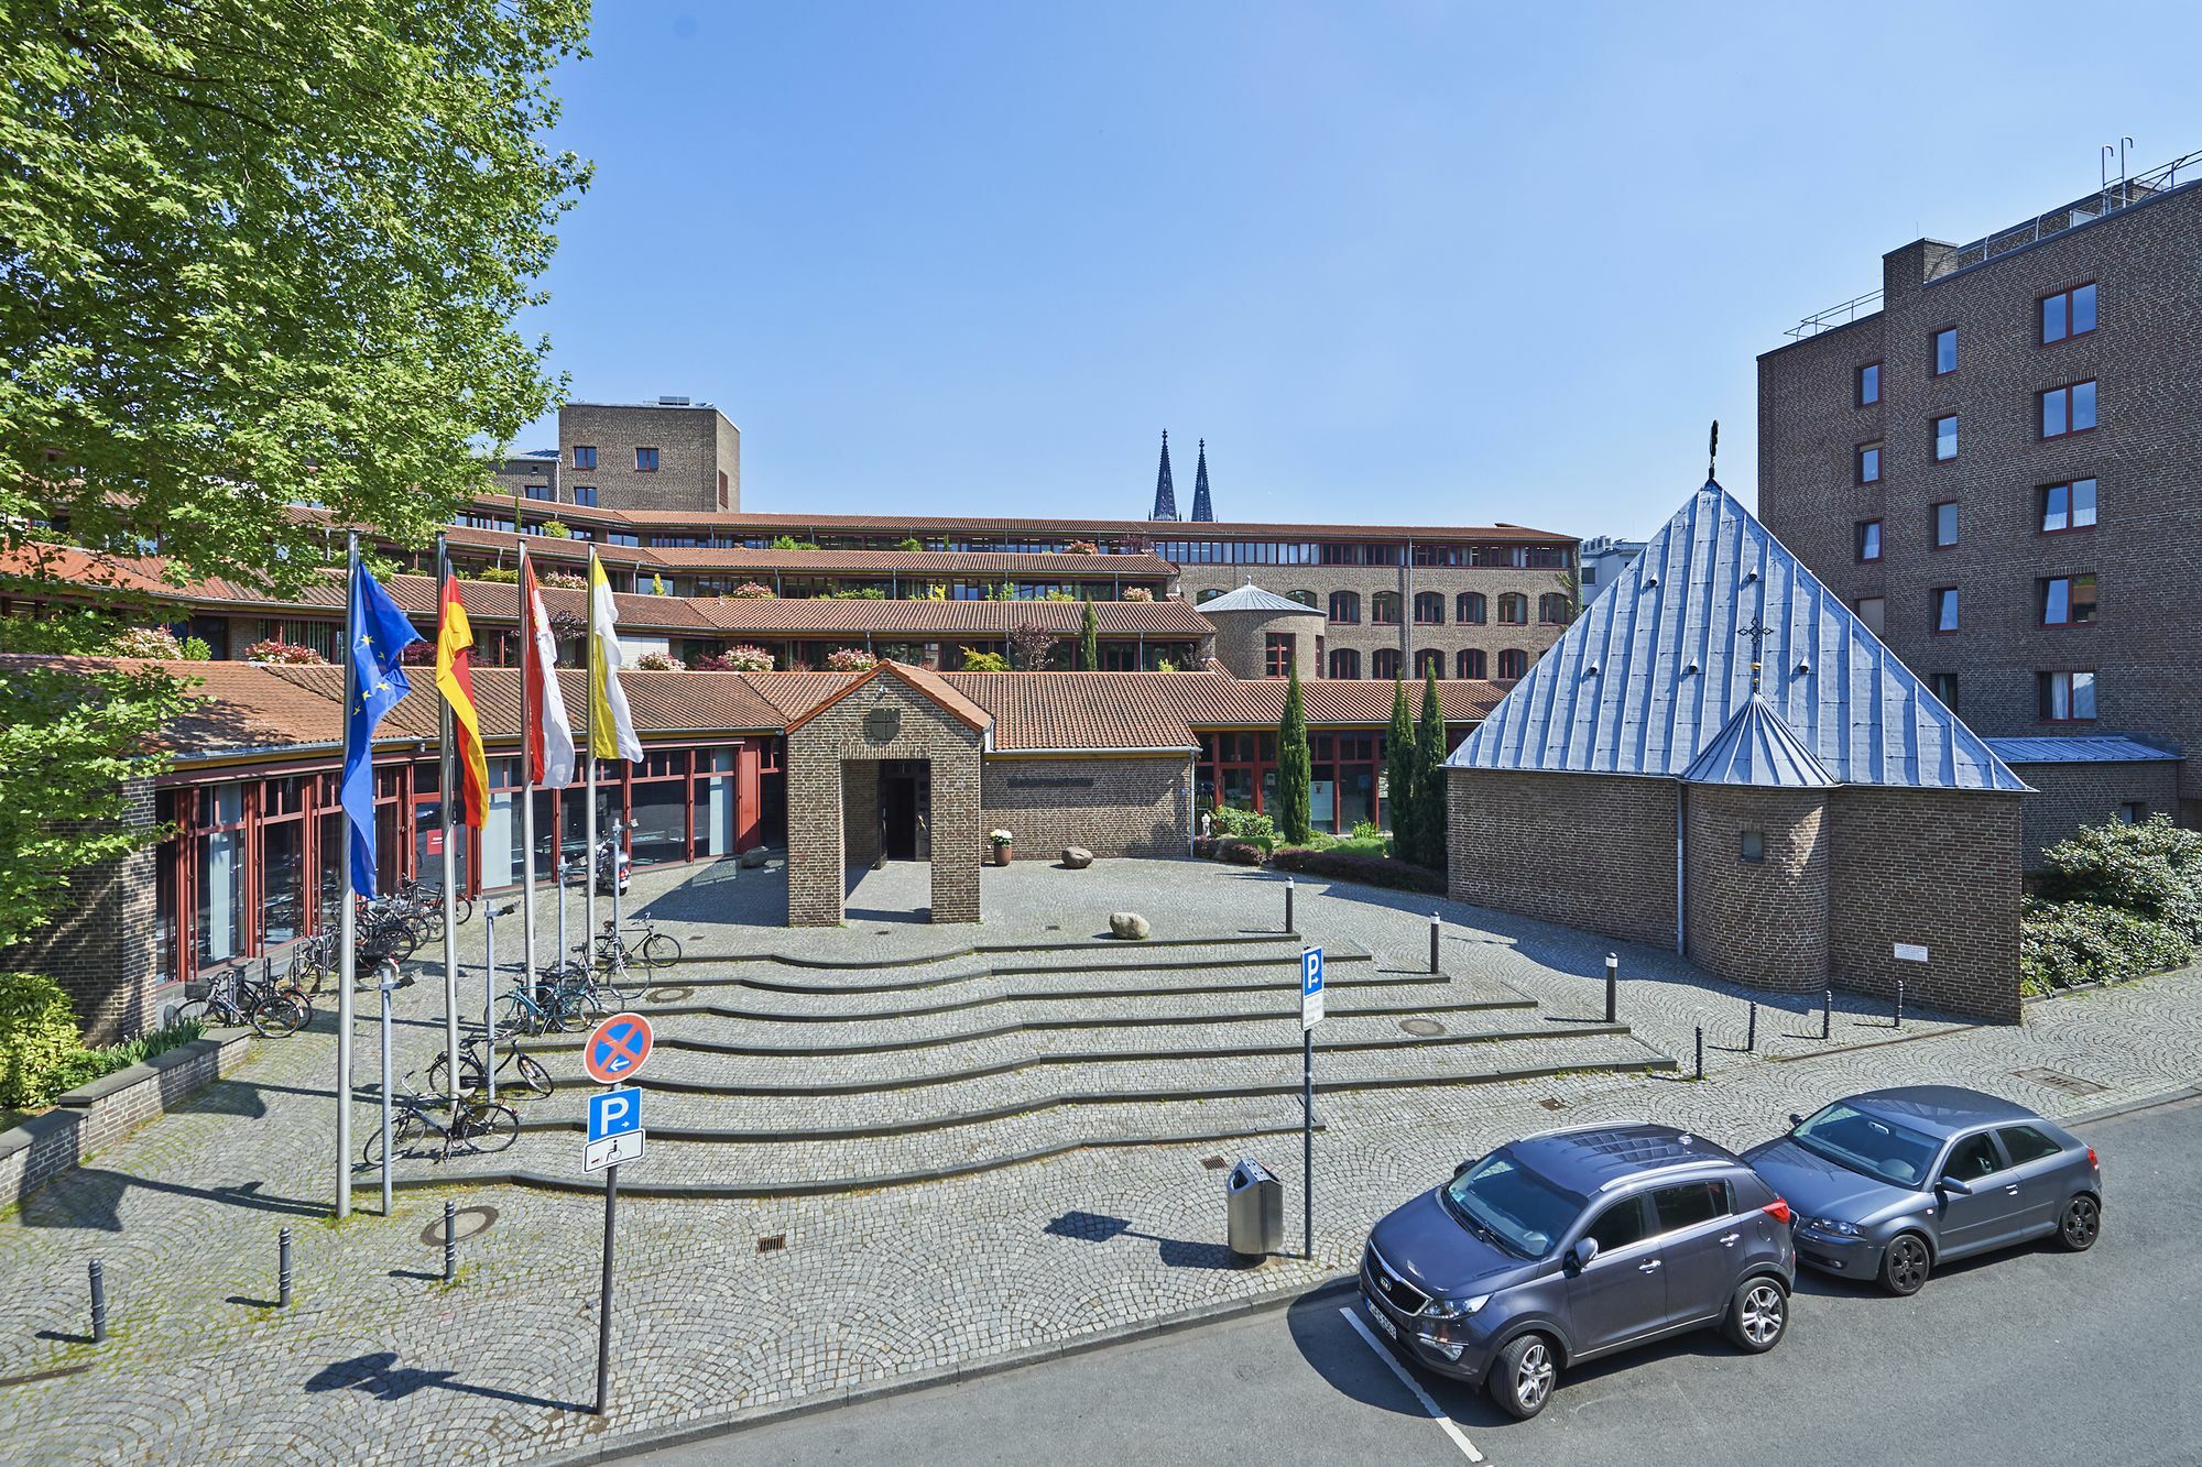
M 1682 808 L 1691 963 L 1755 989 L 1828 987 L 1828 795 L 1693 784 Z M 1742 857 L 1744 830 L 1762 859 Z

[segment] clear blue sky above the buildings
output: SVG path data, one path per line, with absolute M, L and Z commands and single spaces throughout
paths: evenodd
M 1537 13 L 1524 13 L 1535 9 Z M 2105 31 L 2107 26 L 2107 31 Z M 2195 7 L 599 0 L 526 326 L 742 427 L 760 511 L 1643 535 L 1755 357 L 2202 148 Z M 550 423 L 520 447 L 555 443 Z

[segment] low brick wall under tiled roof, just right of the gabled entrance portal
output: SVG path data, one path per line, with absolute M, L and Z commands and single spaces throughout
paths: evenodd
M 989 756 L 980 806 L 989 830 L 1015 835 L 1017 859 L 1055 861 L 1064 846 L 1097 857 L 1185 855 L 1191 760 Z

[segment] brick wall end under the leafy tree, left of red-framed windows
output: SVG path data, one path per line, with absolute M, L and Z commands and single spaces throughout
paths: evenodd
M 152 833 L 152 780 L 123 786 L 121 824 Z M 46 974 L 68 993 L 88 1044 L 115 1044 L 156 1029 L 154 848 L 141 846 L 112 861 L 97 861 L 68 874 L 68 890 L 53 912 L 53 925 L 29 943 L 0 952 L 0 969 Z

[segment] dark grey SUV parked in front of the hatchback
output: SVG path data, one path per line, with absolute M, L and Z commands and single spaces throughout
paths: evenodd
M 1513 1141 L 1394 1209 L 1361 1297 L 1411 1363 L 1535 1416 L 1561 1366 L 1724 1324 L 1751 1352 L 1788 1328 L 1788 1205 L 1733 1152 L 1671 1126 Z

